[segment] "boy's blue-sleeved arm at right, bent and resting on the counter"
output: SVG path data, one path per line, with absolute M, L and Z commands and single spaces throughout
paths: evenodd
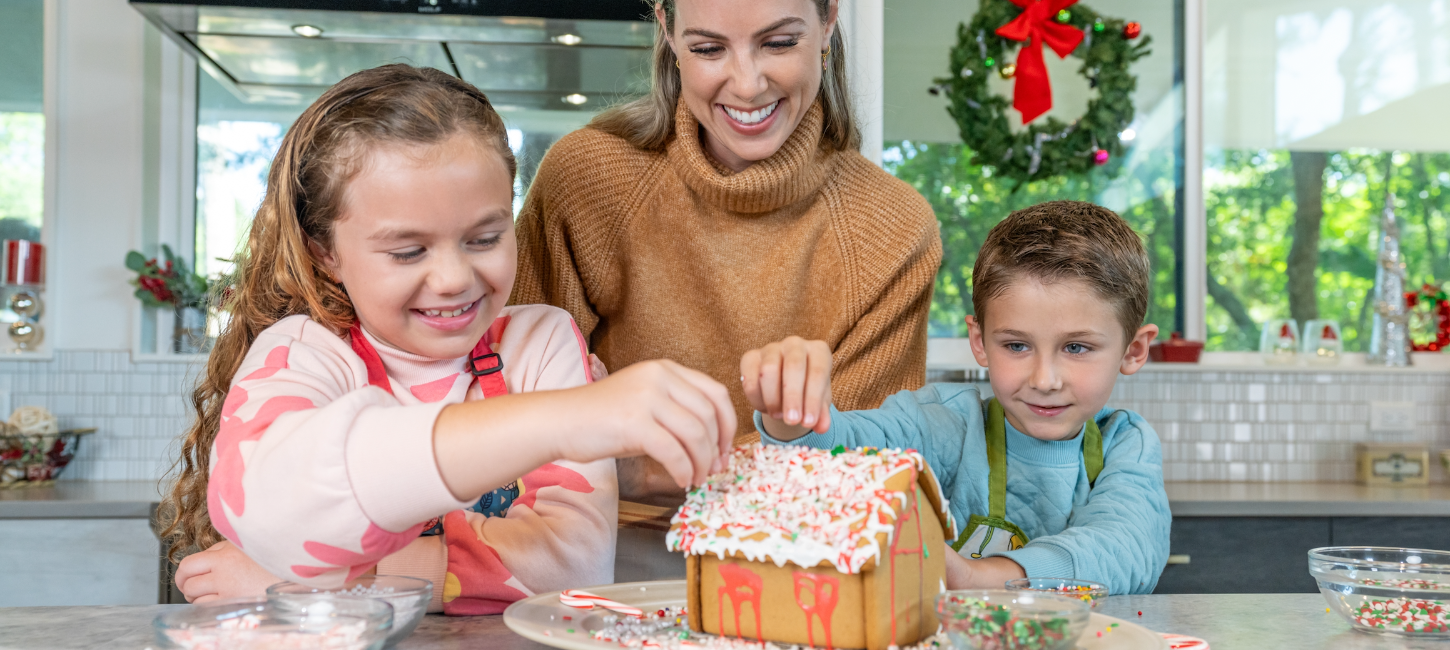
M 999 553 L 1030 577 L 1069 576 L 1108 586 L 1109 593 L 1150 593 L 1169 556 L 1163 450 L 1141 416 L 1119 411 L 1103 427 L 1103 469 L 1073 508 L 1067 530 Z

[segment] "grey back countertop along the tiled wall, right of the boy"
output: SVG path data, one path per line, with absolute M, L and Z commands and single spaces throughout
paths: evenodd
M 1167 483 L 1173 517 L 1450 517 L 1450 485 Z

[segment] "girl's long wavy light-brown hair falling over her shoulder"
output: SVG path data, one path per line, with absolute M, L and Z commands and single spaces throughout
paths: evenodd
M 394 64 L 357 73 L 328 89 L 287 131 L 222 305 L 231 319 L 191 393 L 196 422 L 181 441 L 175 483 L 162 503 L 170 559 L 222 541 L 206 509 L 212 443 L 232 377 L 257 335 L 296 313 L 339 337 L 357 319 L 347 292 L 312 254 L 313 245 L 332 248 L 347 181 L 376 145 L 434 145 L 457 133 L 497 151 L 513 177 L 508 131 L 489 99 L 432 68 Z

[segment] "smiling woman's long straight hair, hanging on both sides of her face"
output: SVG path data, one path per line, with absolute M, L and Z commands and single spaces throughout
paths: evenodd
M 638 149 L 660 151 L 674 136 L 674 110 L 680 102 L 680 68 L 667 35 L 674 33 L 674 6 L 679 0 L 645 0 L 664 10 L 664 25 L 654 33 L 650 94 L 599 113 L 589 125 L 618 135 Z M 831 15 L 831 0 L 812 0 L 821 22 Z M 861 131 L 851 113 L 851 93 L 845 74 L 845 36 L 837 25 L 831 35 L 831 55 L 821 77 L 818 96 L 825 112 L 822 141 L 835 151 L 858 149 Z

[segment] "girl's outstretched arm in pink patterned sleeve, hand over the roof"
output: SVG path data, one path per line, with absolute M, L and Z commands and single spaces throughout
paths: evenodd
M 670 363 L 570 390 L 400 406 L 367 386 L 341 338 L 293 316 L 258 337 L 233 380 L 207 506 L 268 572 L 339 586 L 407 547 L 423 521 L 551 460 L 645 453 L 680 483 L 700 482 L 734 431 L 725 389 Z

